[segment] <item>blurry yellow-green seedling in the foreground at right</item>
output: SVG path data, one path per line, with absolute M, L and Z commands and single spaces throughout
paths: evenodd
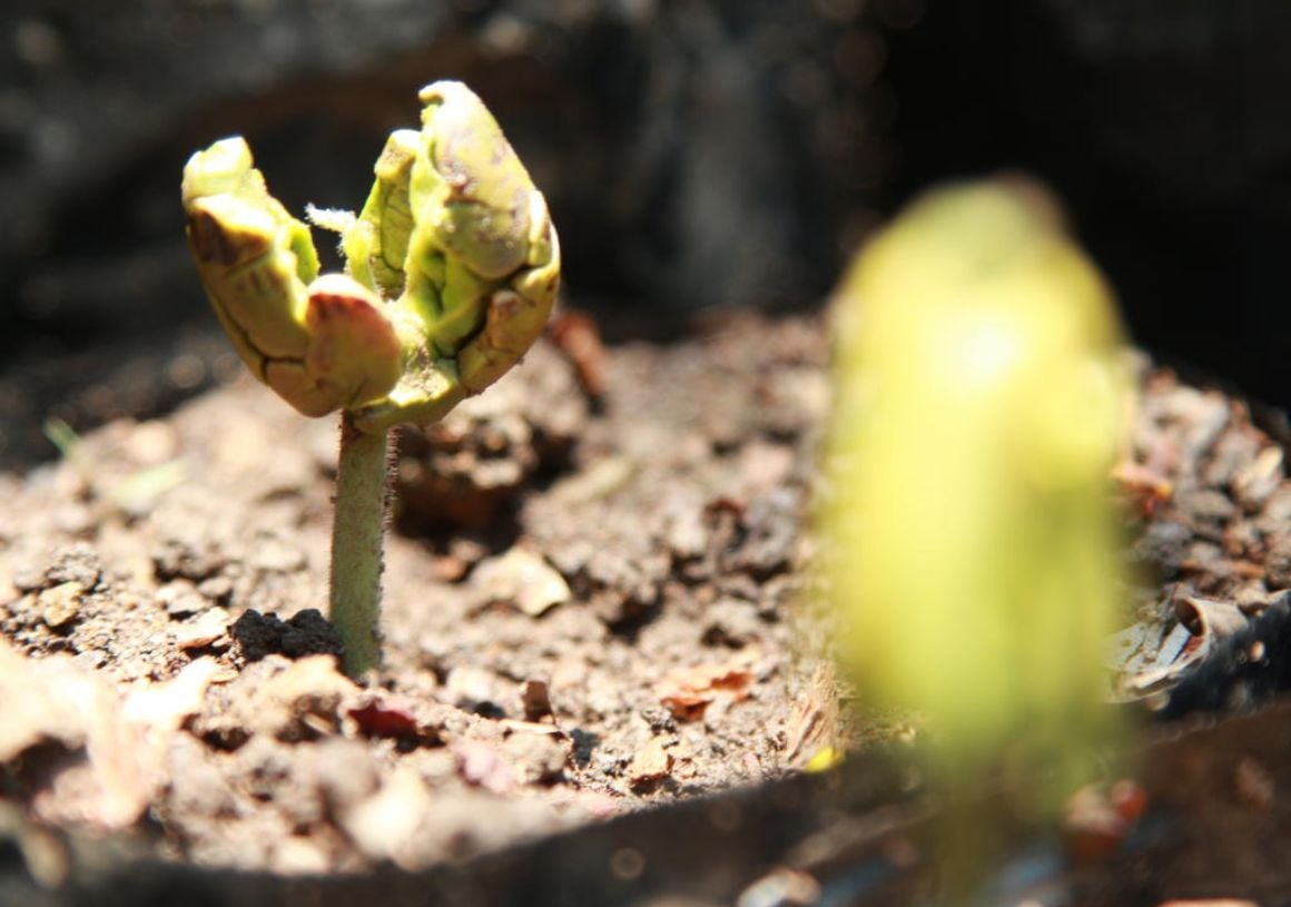
M 842 657 L 864 702 L 928 719 L 954 791 L 1029 766 L 1047 812 L 1112 741 L 1127 397 L 1108 288 L 1041 187 L 998 181 L 915 201 L 839 295 L 821 532 Z

